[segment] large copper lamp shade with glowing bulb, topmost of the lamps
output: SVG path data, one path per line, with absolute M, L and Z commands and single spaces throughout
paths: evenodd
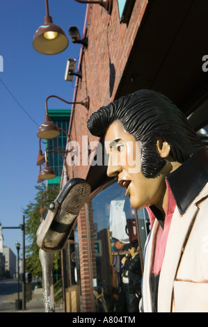
M 33 48 L 40 54 L 59 54 L 67 48 L 69 41 L 61 27 L 54 24 L 49 16 L 48 1 L 45 1 L 45 6 L 46 16 L 44 23 L 35 32 Z

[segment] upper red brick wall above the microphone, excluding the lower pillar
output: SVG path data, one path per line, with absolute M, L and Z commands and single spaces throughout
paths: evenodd
M 90 109 L 87 111 L 81 104 L 74 106 L 70 140 L 78 141 L 80 145 L 82 135 L 88 136 L 89 142 L 97 140 L 88 133 L 86 122 L 91 113 L 113 101 L 146 6 L 147 0 L 135 1 L 128 25 L 119 22 L 117 0 L 113 0 L 111 15 L 108 15 L 98 4 L 87 6 L 88 48 L 83 48 L 80 63 L 83 77 L 77 79 L 77 94 L 74 101 L 80 102 L 88 95 Z M 112 67 L 115 70 L 115 80 L 111 90 L 110 65 L 111 71 Z M 88 169 L 89 166 L 72 166 L 67 167 L 67 173 L 70 178 L 86 178 Z

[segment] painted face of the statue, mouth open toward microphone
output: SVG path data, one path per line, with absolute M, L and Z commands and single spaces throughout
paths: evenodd
M 141 143 L 123 129 L 120 122 L 113 122 L 106 131 L 106 152 L 109 154 L 107 175 L 118 177 L 118 184 L 125 188 L 134 209 L 157 205 L 166 190 L 166 175 L 146 178 L 141 172 Z

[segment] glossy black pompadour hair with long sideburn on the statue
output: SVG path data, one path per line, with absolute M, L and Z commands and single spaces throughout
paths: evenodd
M 141 141 L 141 170 L 148 178 L 157 176 L 166 163 L 157 152 L 159 138 L 168 142 L 170 156 L 179 163 L 204 146 L 184 113 L 168 97 L 154 90 L 138 90 L 102 106 L 90 116 L 88 129 L 94 136 L 104 138 L 116 120 L 125 131 Z

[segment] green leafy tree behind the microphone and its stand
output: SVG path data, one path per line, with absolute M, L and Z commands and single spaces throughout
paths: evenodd
M 35 186 L 37 189 L 37 194 L 35 196 L 34 202 L 29 202 L 26 209 L 24 209 L 25 216 L 25 234 L 26 239 L 29 241 L 29 246 L 26 246 L 26 271 L 32 273 L 33 276 L 42 276 L 42 268 L 39 260 L 39 248 L 36 244 L 36 232 L 40 225 L 40 206 L 47 209 L 49 203 L 53 201 L 58 195 L 59 189 L 56 192 L 50 192 L 46 190 L 45 184 L 40 184 Z M 54 255 L 54 266 L 60 267 L 61 259 L 60 253 Z

